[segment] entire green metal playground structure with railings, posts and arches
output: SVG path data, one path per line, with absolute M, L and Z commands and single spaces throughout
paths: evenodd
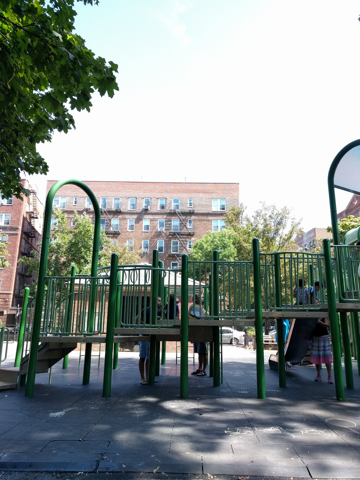
M 50 369 L 51 375 L 52 365 L 60 360 L 63 360 L 63 368 L 66 369 L 68 354 L 78 344 L 85 343 L 83 384 L 89 384 L 92 344 L 104 343 L 103 396 L 110 396 L 112 370 L 118 368 L 119 343 L 137 342 L 139 334 L 142 334 L 143 341 L 150 341 L 150 385 L 155 384 L 155 377 L 159 375 L 160 341 L 161 364 L 166 361 L 165 342 L 180 342 L 180 397 L 187 398 L 188 342 L 210 342 L 210 372 L 214 386 L 218 387 L 222 380 L 220 327 L 254 325 L 257 397 L 265 398 L 263 319 L 293 318 L 301 321 L 328 317 L 336 398 L 345 400 L 342 356 L 346 386 L 354 388 L 348 312 L 351 313 L 354 357 L 360 358 L 360 256 L 356 246 L 350 244 L 359 238 L 359 230 L 348 232 L 345 244 L 339 244 L 334 189 L 360 191 L 360 183 L 354 183 L 360 175 L 351 176 L 352 183 L 347 186 L 344 171 L 348 168 L 349 157 L 352 168 L 355 165 L 360 173 L 360 140 L 347 145 L 330 167 L 328 185 L 334 244 L 331 245 L 328 239 L 323 240 L 322 253 L 260 252 L 259 240 L 253 239 L 251 261 L 219 261 L 218 252 L 214 251 L 212 261 L 192 262 L 183 254 L 180 270 L 164 268 L 158 260 L 157 250 L 153 251 L 151 265 L 118 265 L 118 256 L 113 253 L 108 267 L 97 268 L 100 208 L 96 197 L 79 180 L 58 181 L 48 192 L 45 205 L 36 297 L 29 298 L 29 290 L 25 288 L 15 364 L 12 369 L 0 369 L 0 381 L 3 380 L 3 384 L 8 382 L 8 387 L 25 384 L 25 395 L 32 396 L 36 373 Z M 83 189 L 94 205 L 91 273 L 77 275 L 75 267 L 72 267 L 70 276 L 47 276 L 53 199 L 58 189 L 67 183 Z M 300 302 L 293 298 L 300 278 L 303 288 L 310 288 L 319 281 L 318 301 L 304 304 L 305 296 Z M 180 320 L 176 319 L 175 304 L 172 312 L 169 308 L 164 309 L 164 305 L 169 305 L 170 293 L 181 297 Z M 205 314 L 189 320 L 189 297 L 195 297 L 195 294 L 203 297 Z M 161 314 L 157 311 L 157 297 L 161 297 Z M 150 323 L 142 324 L 139 321 L 141 311 L 148 305 Z M 277 336 L 279 386 L 286 387 L 282 322 L 278 322 Z M 0 357 L 6 338 L 5 329 L 1 329 Z

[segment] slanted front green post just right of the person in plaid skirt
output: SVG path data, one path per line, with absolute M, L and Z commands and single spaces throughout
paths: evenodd
M 324 262 L 325 262 L 325 278 L 326 278 L 326 291 L 327 291 L 327 306 L 329 311 L 331 342 L 334 355 L 334 378 L 335 378 L 335 390 L 337 400 L 345 400 L 344 391 L 344 379 L 341 366 L 340 355 L 340 341 L 339 330 L 337 327 L 337 312 L 336 312 L 336 299 L 335 299 L 335 287 L 333 268 L 331 262 L 331 249 L 330 240 L 323 240 L 324 249 Z

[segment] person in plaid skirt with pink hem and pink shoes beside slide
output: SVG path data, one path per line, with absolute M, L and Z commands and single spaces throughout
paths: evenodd
M 331 351 L 329 339 L 329 319 L 318 320 L 312 334 L 310 361 L 315 364 L 317 375 L 315 382 L 321 382 L 320 367 L 324 363 L 327 370 L 327 383 L 333 384 L 331 376 L 331 364 L 333 363 L 333 354 Z

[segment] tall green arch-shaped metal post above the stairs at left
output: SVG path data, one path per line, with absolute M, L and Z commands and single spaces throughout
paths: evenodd
M 99 255 L 100 222 L 101 222 L 100 207 L 97 202 L 96 196 L 91 191 L 91 189 L 80 180 L 57 181 L 50 188 L 48 192 L 48 196 L 46 198 L 46 203 L 45 203 L 44 229 L 43 229 L 43 237 L 41 242 L 40 259 L 39 259 L 39 273 L 37 277 L 36 299 L 35 299 L 35 307 L 34 307 L 32 335 L 31 335 L 31 342 L 30 342 L 30 354 L 29 354 L 29 362 L 28 362 L 25 396 L 34 395 L 37 351 L 39 348 L 41 317 L 42 317 L 43 302 L 44 302 L 44 295 L 45 295 L 45 276 L 46 276 L 46 267 L 48 264 L 48 249 L 49 249 L 49 243 L 50 243 L 52 204 L 54 201 L 55 193 L 60 189 L 60 187 L 68 183 L 72 185 L 76 185 L 77 187 L 80 187 L 82 190 L 84 190 L 84 192 L 88 194 L 93 204 L 93 208 L 95 211 L 95 228 L 94 228 L 94 241 L 93 241 L 93 255 L 91 260 L 91 276 L 96 277 L 97 260 Z M 94 297 L 94 300 L 95 300 L 95 297 Z M 93 321 L 94 321 L 94 312 L 92 312 L 92 315 L 93 315 Z M 90 344 L 90 360 L 91 360 L 91 344 Z M 84 370 L 84 373 L 85 373 L 85 370 Z M 90 378 L 90 363 L 88 365 L 87 377 Z M 83 383 L 84 383 L 84 380 L 83 380 Z

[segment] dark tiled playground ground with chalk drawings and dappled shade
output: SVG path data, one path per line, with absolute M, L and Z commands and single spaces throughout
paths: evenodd
M 190 375 L 189 360 L 186 399 L 175 354 L 160 365 L 156 385 L 143 386 L 138 354 L 121 352 L 111 396 L 103 397 L 104 357 L 99 370 L 92 360 L 90 384 L 83 385 L 79 354 L 72 352 L 68 370 L 54 365 L 50 385 L 48 373 L 36 375 L 33 397 L 23 388 L 0 392 L 0 471 L 359 478 L 356 362 L 355 388 L 338 402 L 325 369 L 323 382 L 313 382 L 314 366 L 290 368 L 287 388 L 280 388 L 277 372 L 268 369 L 270 353 L 266 398 L 259 400 L 252 349 L 224 347 L 219 387 L 209 376 Z

